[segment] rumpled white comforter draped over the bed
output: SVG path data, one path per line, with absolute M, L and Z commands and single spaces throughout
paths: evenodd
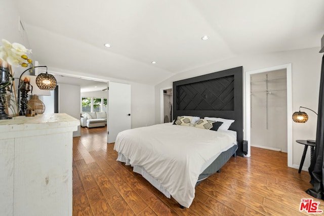
M 120 132 L 114 150 L 131 165 L 143 166 L 174 199 L 189 207 L 203 165 L 234 144 L 231 133 L 165 123 Z

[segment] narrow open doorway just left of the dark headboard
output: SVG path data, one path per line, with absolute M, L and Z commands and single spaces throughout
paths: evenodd
M 172 87 L 161 89 L 160 91 L 160 112 L 161 123 L 167 123 L 173 121 L 173 96 Z

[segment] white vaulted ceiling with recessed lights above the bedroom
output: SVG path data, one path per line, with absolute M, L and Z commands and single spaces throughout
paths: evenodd
M 33 58 L 51 71 L 149 84 L 238 55 L 320 47 L 324 33 L 322 0 L 14 1 Z

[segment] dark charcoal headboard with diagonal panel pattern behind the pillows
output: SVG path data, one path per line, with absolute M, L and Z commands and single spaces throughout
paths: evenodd
M 173 82 L 173 118 L 181 115 L 234 119 L 229 129 L 243 156 L 243 67 Z

